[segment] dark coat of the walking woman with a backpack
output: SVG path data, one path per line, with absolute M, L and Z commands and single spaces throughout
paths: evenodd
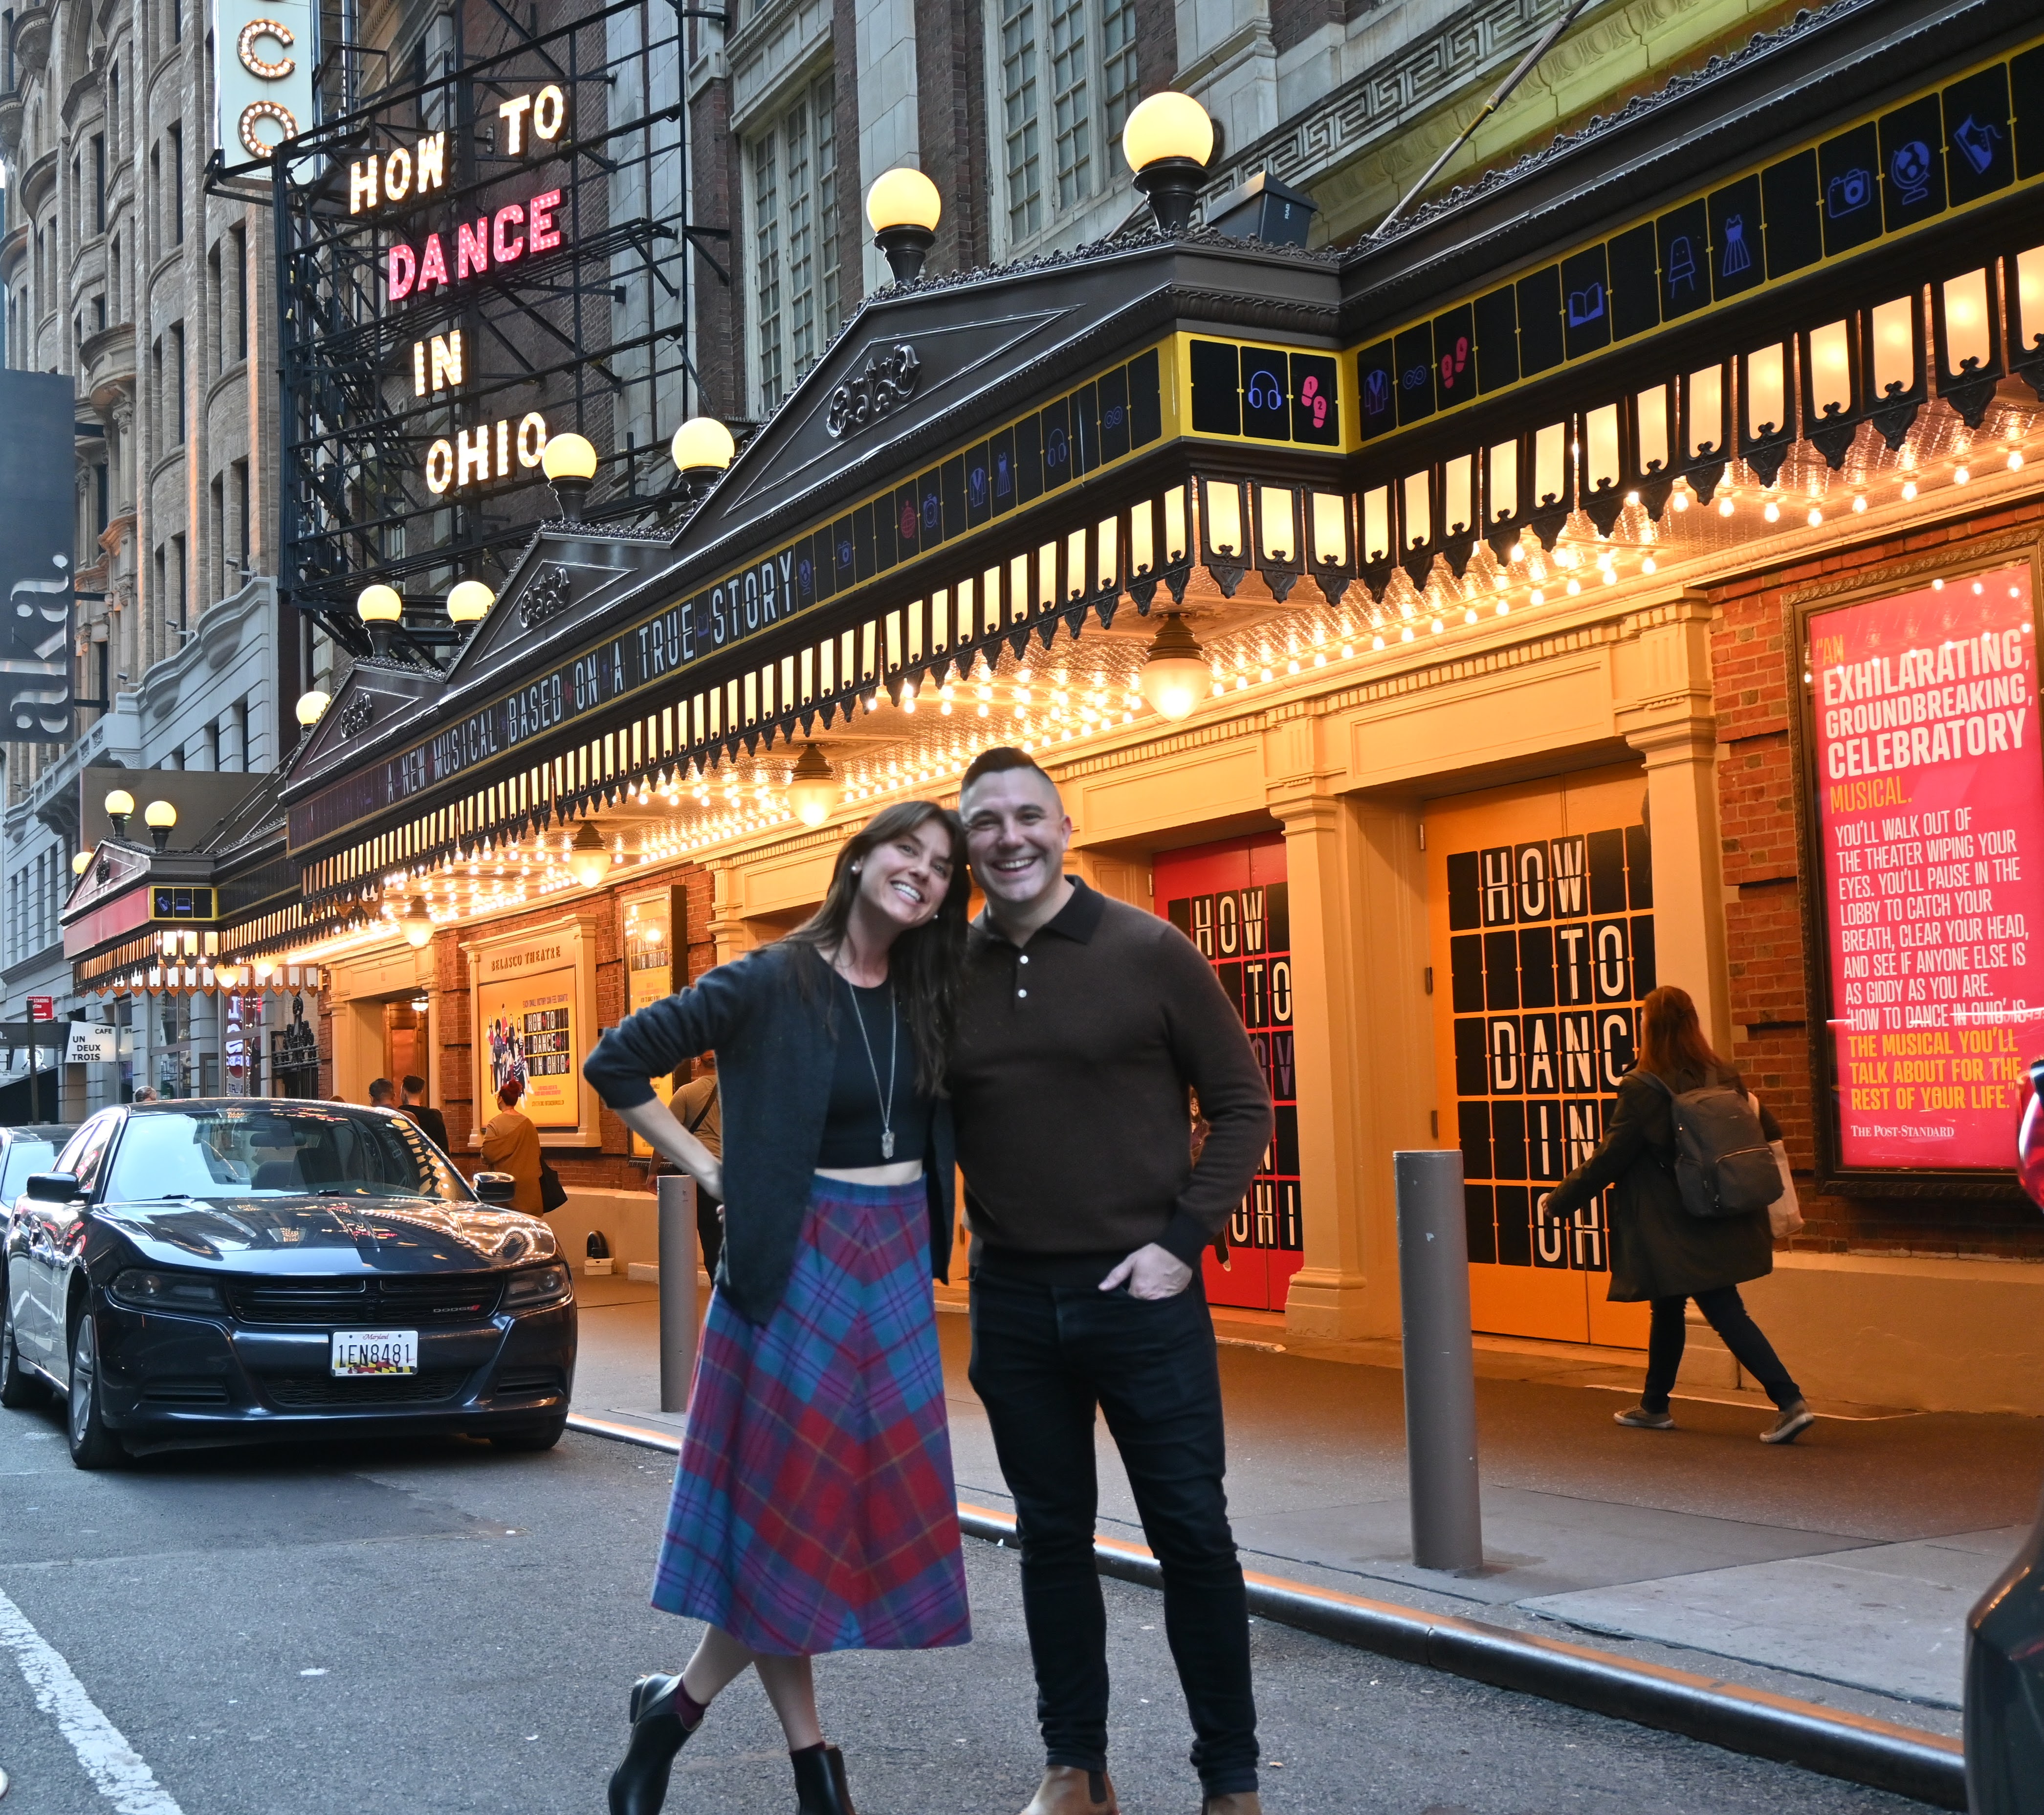
M 1719 1077 L 1746 1087 L 1735 1071 L 1721 1071 Z M 1703 1073 L 1676 1073 L 1668 1083 L 1682 1091 L 1701 1089 L 1705 1079 Z M 1766 1104 L 1760 1106 L 1760 1126 L 1768 1141 L 1782 1138 Z M 1694 1298 L 1774 1271 L 1774 1230 L 1766 1210 L 1690 1216 L 1682 1208 L 1674 1181 L 1670 1098 L 1643 1071 L 1629 1073 L 1619 1085 L 1619 1106 L 1602 1143 L 1562 1179 L 1547 1208 L 1572 1214 L 1605 1185 L 1613 1188 L 1611 1290 L 1605 1294 L 1613 1302 Z

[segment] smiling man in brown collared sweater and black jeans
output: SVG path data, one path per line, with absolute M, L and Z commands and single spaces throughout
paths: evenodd
M 1249 1609 L 1200 1261 L 1269 1143 L 1269 1085 L 1194 944 L 1063 873 L 1071 822 L 1036 762 L 981 752 L 959 811 L 987 908 L 967 946 L 950 1089 L 973 1230 L 971 1380 L 1016 1498 L 1044 1741 L 1024 1815 L 1118 1809 L 1096 1406 L 1163 1566 L 1200 1807 L 1257 1815 Z

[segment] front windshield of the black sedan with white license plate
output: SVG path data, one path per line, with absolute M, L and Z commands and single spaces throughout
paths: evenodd
M 102 1198 L 437 1198 L 466 1179 L 409 1122 L 339 1108 L 149 1110 L 129 1116 Z

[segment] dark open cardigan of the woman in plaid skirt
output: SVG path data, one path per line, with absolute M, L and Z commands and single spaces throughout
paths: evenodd
M 717 1286 L 752 1322 L 773 1316 L 795 1269 L 838 1065 L 838 1016 L 826 1012 L 826 991 L 803 993 L 791 959 L 793 948 L 769 944 L 717 965 L 693 989 L 625 1016 L 583 1061 L 603 1102 L 632 1108 L 652 1102 L 654 1077 L 715 1051 L 724 1116 Z M 950 1098 L 938 1098 L 924 1155 L 938 1279 L 950 1277 L 955 1173 Z

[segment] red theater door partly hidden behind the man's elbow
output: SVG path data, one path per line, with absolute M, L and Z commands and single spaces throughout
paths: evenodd
M 1167 850 L 1155 858 L 1151 877 L 1157 912 L 1220 977 L 1278 1106 L 1263 1165 L 1228 1218 L 1228 1259 L 1206 1255 L 1206 1296 L 1214 1304 L 1284 1310 L 1286 1282 L 1304 1261 L 1284 834 Z

